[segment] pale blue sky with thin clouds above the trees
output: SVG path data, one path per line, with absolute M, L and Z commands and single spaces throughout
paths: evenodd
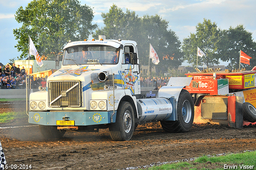
M 6 64 L 9 59 L 17 58 L 18 52 L 13 30 L 22 24 L 16 22 L 14 14 L 20 6 L 26 8 L 31 0 L 0 0 L 0 62 Z M 196 25 L 204 18 L 216 22 L 224 30 L 242 24 L 256 40 L 256 1 L 255 0 L 79 0 L 81 5 L 90 6 L 94 12 L 92 24 L 104 27 L 102 12 L 107 13 L 110 6 L 116 4 L 124 12 L 135 11 L 138 16 L 160 15 L 169 22 L 168 29 L 176 32 L 183 42 L 190 33 L 196 33 Z M 227 65 L 221 62 L 220 65 Z M 184 62 L 182 65 L 188 66 Z

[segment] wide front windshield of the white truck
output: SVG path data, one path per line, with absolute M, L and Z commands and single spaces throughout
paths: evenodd
M 104 45 L 72 46 L 64 50 L 63 65 L 117 64 L 120 48 Z

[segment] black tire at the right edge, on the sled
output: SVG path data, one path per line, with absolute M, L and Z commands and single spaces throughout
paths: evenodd
M 249 122 L 256 122 L 256 108 L 249 102 L 243 103 L 244 119 Z

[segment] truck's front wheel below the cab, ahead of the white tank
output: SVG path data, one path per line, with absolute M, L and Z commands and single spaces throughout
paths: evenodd
M 130 140 L 134 132 L 134 110 L 129 102 L 121 102 L 116 113 L 116 122 L 110 124 L 112 140 Z

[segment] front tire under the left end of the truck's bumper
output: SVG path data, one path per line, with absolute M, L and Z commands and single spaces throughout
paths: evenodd
M 65 134 L 65 130 L 58 130 L 57 126 L 39 125 L 39 129 L 46 139 L 59 139 Z

